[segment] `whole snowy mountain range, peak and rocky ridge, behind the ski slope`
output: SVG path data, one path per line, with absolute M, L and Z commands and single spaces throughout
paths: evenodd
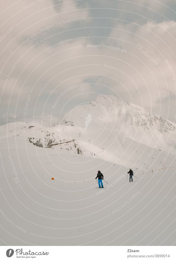
M 146 158 L 150 158 L 152 150 L 162 151 L 160 162 L 170 148 L 173 156 L 176 153 L 174 123 L 112 95 L 99 95 L 89 103 L 76 106 L 60 122 L 51 128 L 36 122 L 29 122 L 26 127 L 23 122 L 9 123 L 0 126 L 0 139 L 25 136 L 35 146 L 64 149 L 110 162 L 118 160 L 118 164 L 124 166 L 129 161 L 136 163 L 136 168 L 141 166 L 135 149 L 139 144 L 143 144 L 141 149 L 146 151 Z

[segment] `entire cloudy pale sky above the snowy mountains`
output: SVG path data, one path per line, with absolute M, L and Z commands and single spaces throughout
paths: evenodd
M 3 0 L 0 10 L 1 125 L 25 113 L 49 126 L 98 94 L 175 121 L 175 0 Z

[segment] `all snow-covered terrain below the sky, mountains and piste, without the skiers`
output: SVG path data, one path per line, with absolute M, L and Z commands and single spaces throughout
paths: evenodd
M 112 96 L 61 123 L 0 126 L 2 244 L 176 245 L 175 125 Z

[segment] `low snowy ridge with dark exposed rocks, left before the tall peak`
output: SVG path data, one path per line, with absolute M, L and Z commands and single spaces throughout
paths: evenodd
M 28 122 L 27 124 L 14 122 L 0 126 L 0 139 L 7 139 L 7 137 L 12 136 L 15 136 L 18 140 L 19 137 L 24 136 L 26 142 L 42 148 L 59 147 L 60 149 L 68 150 L 72 154 L 96 156 L 91 151 L 84 147 L 82 148 L 76 139 L 63 135 L 57 129 L 53 132 L 51 128 L 41 126 L 37 122 Z

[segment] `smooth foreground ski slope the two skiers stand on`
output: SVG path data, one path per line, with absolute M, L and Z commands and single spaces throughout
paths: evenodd
M 144 147 L 135 149 L 144 162 Z M 1 139 L 0 153 L 2 245 L 176 244 L 174 168 L 133 169 L 129 183 L 124 166 L 40 148 L 24 135 Z M 174 166 L 170 156 L 167 167 Z M 97 170 L 104 189 L 96 189 Z

